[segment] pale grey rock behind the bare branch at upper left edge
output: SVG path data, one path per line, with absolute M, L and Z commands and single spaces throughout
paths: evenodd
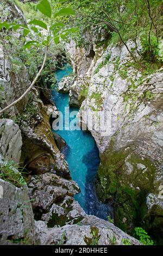
M 22 11 L 17 7 L 15 3 L 11 3 L 10 1 L 1 1 L 0 11 L 1 21 L 12 21 L 15 23 L 22 23 L 24 25 L 27 24 Z M 20 36 L 23 32 L 14 32 L 13 30 L 9 33 L 12 37 L 12 40 L 18 40 L 20 39 Z M 30 85 L 28 72 L 26 66 L 22 63 L 22 60 L 20 58 L 15 59 L 16 70 L 14 71 L 14 65 L 11 66 L 11 60 L 13 58 L 12 53 L 8 50 L 8 53 L 4 54 L 3 50 L 3 45 L 0 45 L 0 86 L 2 87 L 0 87 L 0 99 L 2 99 L 0 100 L 0 109 L 8 106 L 9 103 L 20 97 Z M 5 111 L 5 115 L 9 115 L 9 117 L 15 117 L 17 112 L 21 113 L 26 106 L 28 99 L 29 94 L 24 96 L 23 100 L 18 102 L 15 106 L 12 106 L 10 109 Z

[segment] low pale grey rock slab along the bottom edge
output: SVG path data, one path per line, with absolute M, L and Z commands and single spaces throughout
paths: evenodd
M 45 222 L 35 222 L 35 243 L 41 245 L 140 245 L 140 242 L 127 235 L 113 224 L 95 216 L 87 216 L 80 225 L 65 225 L 61 228 L 47 228 Z

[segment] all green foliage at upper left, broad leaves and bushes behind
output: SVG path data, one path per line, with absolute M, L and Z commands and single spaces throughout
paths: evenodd
M 55 6 L 59 4 L 57 5 L 59 9 L 53 8 L 52 10 L 48 0 L 42 0 L 39 4 L 16 1 L 17 5 L 20 4 L 22 9 L 26 9 L 26 14 L 27 12 L 31 14 L 34 10 L 34 19 L 28 21 L 28 25 L 21 24 L 20 20 L 17 23 L 8 22 L 10 18 L 3 17 L 0 23 L 0 41 L 5 47 L 6 57 L 10 60 L 11 72 L 20 74 L 25 65 L 32 81 L 42 65 L 45 47 L 48 47 L 42 77 L 45 77 L 46 83 L 54 87 L 56 83 L 54 71 L 65 60 L 65 50 L 59 42 L 66 39 L 69 34 L 76 33 L 76 28 L 66 28 L 64 22 L 59 20 L 63 15 L 74 14 L 71 8 L 60 8 L 61 2 L 63 1 L 55 1 Z M 38 13 L 40 15 L 37 15 Z M 10 17 L 10 13 L 7 15 Z M 54 19 L 54 16 L 57 16 L 57 19 Z M 43 31 L 44 29 L 47 32 Z M 18 31 L 21 37 L 17 38 L 13 31 Z

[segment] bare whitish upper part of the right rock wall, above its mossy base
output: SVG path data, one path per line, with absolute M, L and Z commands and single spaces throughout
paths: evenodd
M 107 54 L 110 54 L 109 62 L 98 69 L 98 65 L 104 63 Z M 124 63 L 128 62 L 128 58 L 126 47 L 108 47 L 93 68 L 89 94 L 82 105 L 84 111 L 92 113 L 92 110 L 100 110 L 108 114 L 110 127 L 108 127 L 106 135 L 103 136 L 102 130 L 92 131 L 101 153 L 105 151 L 110 138 L 117 132 L 120 133 L 119 136 L 116 136 L 116 148 L 118 149 L 130 143 L 130 140 L 135 141 L 140 136 L 144 139 L 146 136 L 149 138 L 149 133 L 152 132 L 154 135 L 155 131 L 161 130 L 163 121 L 161 109 L 156 106 L 155 102 L 161 98 L 162 72 L 160 70 L 154 75 L 142 78 L 141 81 L 140 73 L 133 68 L 128 68 L 126 78 L 122 78 L 121 70 L 123 70 Z M 145 97 L 146 94 L 149 94 L 149 97 Z M 96 95 L 101 99 L 100 101 L 96 100 Z M 149 99 L 150 97 L 153 99 Z M 155 116 L 155 122 L 160 122 L 160 126 L 155 128 L 153 124 L 146 127 L 147 121 L 150 123 L 148 119 L 145 119 L 147 116 Z

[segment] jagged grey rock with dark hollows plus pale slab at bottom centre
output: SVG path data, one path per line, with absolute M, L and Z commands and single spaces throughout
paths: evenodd
M 124 239 L 133 245 L 140 244 L 114 224 L 86 215 L 73 198 L 79 192 L 79 187 L 72 180 L 52 173 L 33 176 L 29 191 L 37 220 L 36 245 L 57 245 L 62 234 L 65 234 L 62 241 L 64 245 L 87 245 L 96 237 L 99 239 L 98 245 L 122 245 Z M 93 230 L 96 231 L 96 237 L 93 237 Z

